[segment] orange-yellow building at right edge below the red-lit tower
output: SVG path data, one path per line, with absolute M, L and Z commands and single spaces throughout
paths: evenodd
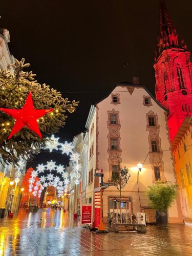
M 182 214 L 192 218 L 192 116 L 183 121 L 172 147 Z

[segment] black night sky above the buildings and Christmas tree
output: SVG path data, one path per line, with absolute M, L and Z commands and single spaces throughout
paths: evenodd
M 192 50 L 192 1 L 165 2 L 177 33 Z M 91 104 L 117 82 L 137 75 L 154 93 L 158 10 L 159 0 L 2 1 L 0 27 L 10 32 L 11 54 L 31 63 L 38 82 L 80 101 L 58 134 L 61 142 L 86 130 Z M 44 152 L 29 166 L 51 159 L 68 162 L 61 154 Z

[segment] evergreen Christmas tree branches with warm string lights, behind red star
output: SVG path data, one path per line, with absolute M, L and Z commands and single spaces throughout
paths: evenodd
M 59 128 L 65 125 L 66 111 L 73 113 L 79 103 L 62 98 L 60 92 L 50 89 L 45 83 L 39 84 L 32 71 L 24 71 L 24 68 L 30 66 L 24 62 L 24 58 L 21 61 L 15 59 L 12 65 L 14 74 L 10 70 L 0 70 L 0 108 L 22 109 L 31 92 L 35 109 L 53 108 L 54 111 L 37 120 L 42 139 L 26 126 L 8 139 L 15 120 L 0 112 L 0 160 L 6 163 L 14 164 L 20 158 L 31 159 L 45 145 L 46 137 L 58 132 Z

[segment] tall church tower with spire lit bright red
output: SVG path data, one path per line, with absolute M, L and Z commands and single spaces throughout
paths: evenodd
M 164 0 L 160 1 L 160 28 L 155 56 L 155 93 L 169 110 L 168 127 L 172 141 L 185 117 L 192 114 L 192 67 L 190 52 L 173 26 Z

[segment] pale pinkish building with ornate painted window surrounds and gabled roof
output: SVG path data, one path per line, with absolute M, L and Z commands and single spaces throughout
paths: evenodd
M 121 166 L 128 167 L 131 173 L 122 196 L 131 199 L 134 214 L 142 210 L 150 215 L 152 207 L 145 193 L 147 187 L 154 182 L 176 183 L 166 115 L 163 106 L 139 85 L 137 78 L 133 83 L 117 84 L 108 97 L 91 106 L 86 123 L 89 129 L 88 203 L 94 207 L 94 191 L 99 187 L 95 171 L 102 169 L 103 181 L 109 183 L 120 161 Z M 143 162 L 138 193 L 137 163 Z M 115 186 L 104 189 L 104 222 L 107 221 L 107 212 L 113 211 L 112 201 L 118 197 L 119 191 Z M 169 223 L 182 223 L 179 198 L 169 209 L 168 217 Z

